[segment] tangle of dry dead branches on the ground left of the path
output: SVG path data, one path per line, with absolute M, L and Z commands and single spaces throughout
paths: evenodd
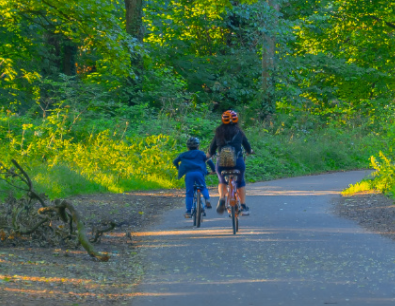
M 17 201 L 10 196 L 6 200 L 3 206 L 5 213 L 0 218 L 1 241 L 15 241 L 22 236 L 29 236 L 30 241 L 38 240 L 40 245 L 74 241 L 75 245 L 82 245 L 90 256 L 99 261 L 108 261 L 109 256 L 96 251 L 92 243 L 98 242 L 103 233 L 113 230 L 117 224 L 110 222 L 107 227 L 95 229 L 93 239 L 89 240 L 84 222 L 74 205 L 59 199 L 46 203 L 45 196 L 34 190 L 26 171 L 17 161 L 12 160 L 12 163 L 15 167 L 8 168 L 0 162 L 0 179 L 25 191 L 26 197 Z

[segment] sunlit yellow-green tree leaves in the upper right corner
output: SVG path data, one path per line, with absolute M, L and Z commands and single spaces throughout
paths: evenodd
M 393 8 L 388 1 L 326 1 L 306 19 L 300 53 L 328 57 L 331 65 L 317 68 L 334 77 L 337 97 L 355 104 L 393 95 Z

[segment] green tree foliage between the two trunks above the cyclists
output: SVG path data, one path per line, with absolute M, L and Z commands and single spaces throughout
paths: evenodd
M 213 1 L 149 1 L 145 21 L 152 62 L 172 67 L 200 103 L 221 110 L 249 104 L 261 111 L 262 37 L 275 35 L 283 53 L 292 29 L 283 21 L 277 22 L 281 30 L 274 29 L 274 10 L 265 1 L 252 2 L 220 9 Z

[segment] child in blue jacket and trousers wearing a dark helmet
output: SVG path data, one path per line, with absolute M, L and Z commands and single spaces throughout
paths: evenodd
M 211 158 L 207 158 L 203 151 L 199 150 L 200 141 L 196 137 L 191 137 L 187 141 L 188 151 L 181 153 L 174 161 L 173 164 L 178 170 L 178 179 L 185 175 L 186 197 L 185 205 L 186 212 L 185 218 L 191 218 L 193 206 L 193 185 L 195 183 L 204 186 L 202 190 L 207 209 L 211 208 L 210 195 L 206 188 L 205 176 L 207 172 L 207 164 L 210 166 L 211 171 L 215 172 L 215 166 Z

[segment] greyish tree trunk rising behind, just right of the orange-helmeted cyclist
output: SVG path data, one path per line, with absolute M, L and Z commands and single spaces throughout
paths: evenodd
M 275 3 L 275 0 L 267 0 L 267 3 L 277 12 L 280 6 Z M 276 28 L 277 21 L 273 25 Z M 276 40 L 274 34 L 265 34 L 262 43 L 262 91 L 263 91 L 263 108 L 265 115 L 271 116 L 276 110 L 275 101 L 275 82 L 274 82 L 274 68 L 275 68 L 275 54 L 276 54 Z

